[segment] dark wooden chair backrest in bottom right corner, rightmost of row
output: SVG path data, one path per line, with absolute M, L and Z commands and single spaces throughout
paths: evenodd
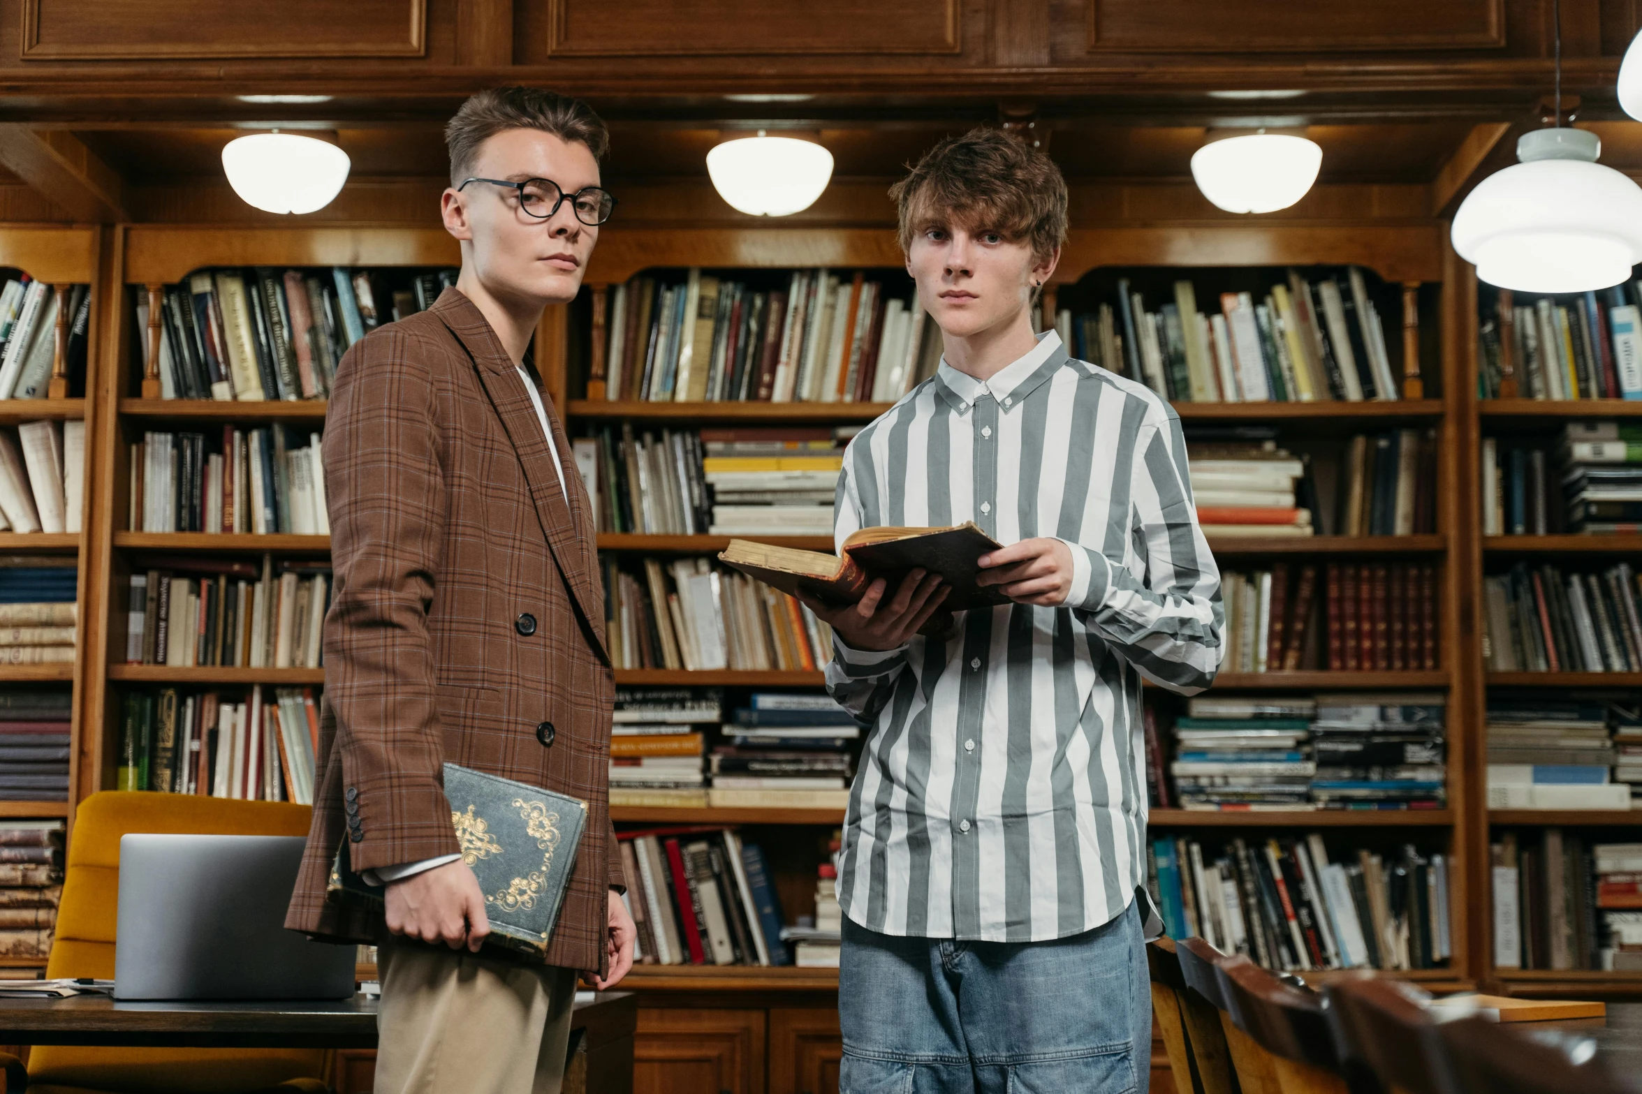
M 1576 1033 L 1525 1030 L 1470 1017 L 1437 1027 L 1465 1094 L 1635 1094 L 1622 1076 L 1591 1058 L 1594 1043 Z

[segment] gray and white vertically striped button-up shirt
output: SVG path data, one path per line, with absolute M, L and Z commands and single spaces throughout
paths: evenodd
M 1181 420 L 1054 331 L 987 382 L 943 361 L 851 441 L 834 535 L 965 520 L 1005 545 L 1064 540 L 1072 594 L 885 653 L 834 636 L 828 691 L 872 723 L 839 902 L 887 935 L 1064 938 L 1146 881 L 1141 677 L 1194 694 L 1220 668 Z

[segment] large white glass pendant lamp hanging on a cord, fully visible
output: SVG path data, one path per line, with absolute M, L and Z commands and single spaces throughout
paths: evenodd
M 1453 217 L 1453 249 L 1491 285 L 1588 292 L 1617 285 L 1642 261 L 1642 187 L 1596 162 L 1585 130 L 1517 141 L 1522 162 L 1498 171 Z

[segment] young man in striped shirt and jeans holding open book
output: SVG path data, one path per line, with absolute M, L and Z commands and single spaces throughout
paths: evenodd
M 1144 1091 L 1141 679 L 1194 694 L 1222 656 L 1181 423 L 1033 335 L 1066 236 L 1048 156 L 977 130 L 892 195 L 944 356 L 851 443 L 836 538 L 972 520 L 1008 545 L 982 582 L 1013 604 L 947 628 L 920 571 L 811 604 L 828 691 L 872 723 L 837 884 L 841 1089 Z

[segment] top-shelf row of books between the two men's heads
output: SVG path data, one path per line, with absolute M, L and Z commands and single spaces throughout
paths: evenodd
M 611 289 L 604 338 L 594 381 L 612 400 L 895 402 L 941 361 L 939 331 L 892 271 L 640 276 Z

